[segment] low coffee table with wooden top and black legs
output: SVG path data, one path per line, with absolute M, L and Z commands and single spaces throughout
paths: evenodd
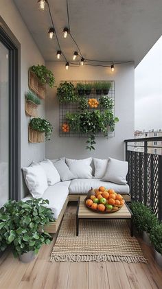
M 81 196 L 78 200 L 76 211 L 76 235 L 79 235 L 80 219 L 130 219 L 130 235 L 133 236 L 133 214 L 125 203 L 124 206 L 115 213 L 95 213 L 84 205 L 85 196 Z

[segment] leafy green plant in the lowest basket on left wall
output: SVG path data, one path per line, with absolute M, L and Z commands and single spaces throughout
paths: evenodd
M 45 139 L 47 141 L 50 140 L 53 127 L 46 119 L 41 119 L 40 117 L 33 118 L 30 121 L 30 127 L 32 128 L 32 130 L 45 132 Z

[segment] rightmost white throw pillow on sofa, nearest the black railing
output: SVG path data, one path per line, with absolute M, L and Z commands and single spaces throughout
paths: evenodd
M 106 173 L 102 178 L 103 181 L 126 185 L 126 175 L 128 173 L 128 162 L 117 159 L 108 159 Z

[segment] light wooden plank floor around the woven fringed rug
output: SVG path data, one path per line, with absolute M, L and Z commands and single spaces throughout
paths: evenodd
M 76 211 L 69 205 L 68 211 Z M 152 249 L 141 240 L 148 264 L 122 262 L 51 263 L 53 244 L 43 246 L 36 259 L 23 264 L 5 253 L 0 259 L 1 289 L 150 289 L 162 288 L 162 270 L 155 264 Z

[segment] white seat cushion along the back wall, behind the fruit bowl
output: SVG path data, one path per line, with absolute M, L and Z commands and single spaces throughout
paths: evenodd
M 118 194 L 129 193 L 128 185 L 117 185 L 111 182 L 100 181 L 97 178 L 76 178 L 70 183 L 69 194 L 87 194 L 91 187 L 96 189 L 100 186 L 104 186 L 106 189 L 115 189 L 115 192 Z

